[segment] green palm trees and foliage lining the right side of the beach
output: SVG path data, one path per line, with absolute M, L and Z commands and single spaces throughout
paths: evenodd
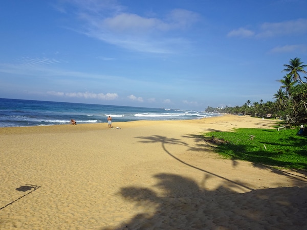
M 231 114 L 250 115 L 259 118 L 281 118 L 288 124 L 299 125 L 307 121 L 307 74 L 304 68 L 307 65 L 300 58 L 290 59 L 289 64 L 284 64 L 282 72 L 286 75 L 277 80 L 281 83 L 276 94 L 275 101 L 263 100 L 259 102 L 247 102 L 242 106 L 213 108 L 208 106 L 206 112 L 222 112 Z

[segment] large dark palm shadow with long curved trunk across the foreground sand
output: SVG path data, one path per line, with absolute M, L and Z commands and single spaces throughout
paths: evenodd
M 143 212 L 116 227 L 101 229 L 307 229 L 306 188 L 252 190 L 242 183 L 189 165 L 172 155 L 166 144 L 188 146 L 164 136 L 137 137 L 143 143 L 161 142 L 164 151 L 209 177 L 224 179 L 219 188 L 209 191 L 194 180 L 172 173 L 154 175 L 155 186 L 125 187 L 117 195 L 133 202 Z M 233 187 L 250 189 L 235 193 Z M 159 190 L 159 194 L 155 190 Z

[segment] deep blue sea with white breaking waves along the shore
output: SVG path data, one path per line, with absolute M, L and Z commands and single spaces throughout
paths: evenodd
M 0 98 L 0 127 L 69 124 L 71 119 L 76 120 L 77 124 L 105 123 L 108 116 L 113 118 L 113 122 L 127 122 L 138 120 L 192 120 L 220 116 L 220 114 L 180 109 Z

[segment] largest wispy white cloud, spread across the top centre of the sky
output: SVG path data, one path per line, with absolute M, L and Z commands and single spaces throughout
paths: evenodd
M 173 9 L 158 18 L 127 12 L 117 1 L 74 0 L 69 3 L 70 8 L 61 12 L 74 10 L 81 24 L 73 30 L 139 52 L 173 53 L 189 42 L 178 33 L 174 37 L 171 32 L 186 30 L 200 19 L 197 13 L 184 9 Z

